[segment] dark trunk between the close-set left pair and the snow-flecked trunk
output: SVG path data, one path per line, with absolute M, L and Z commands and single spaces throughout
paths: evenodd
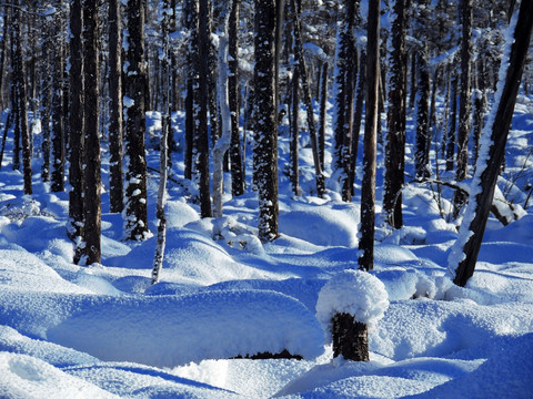
M 110 0 L 108 9 L 109 23 L 109 207 L 112 213 L 120 213 L 124 207 L 122 193 L 122 23 L 119 0 Z

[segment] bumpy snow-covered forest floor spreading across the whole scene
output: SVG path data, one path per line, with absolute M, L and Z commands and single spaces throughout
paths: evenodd
M 509 190 L 522 205 L 519 188 L 533 166 L 525 158 L 527 100 L 516 109 L 506 167 L 512 176 L 526 165 Z M 285 137 L 280 145 L 282 170 Z M 225 217 L 201 221 L 183 187 L 170 182 L 162 282 L 150 286 L 154 238 L 122 242 L 121 216 L 105 213 L 107 194 L 102 265 L 76 266 L 66 238 L 68 195 L 50 193 L 36 174 L 36 194 L 23 196 L 7 154 L 0 397 L 532 398 L 533 211 L 506 227 L 491 218 L 474 277 L 459 288 L 446 266 L 455 226 L 441 218 L 431 191 L 408 187 L 405 227 L 391 233 L 378 221 L 372 273 L 390 304 L 370 331 L 371 361 L 332 360 L 315 306 L 332 276 L 356 267 L 359 193 L 352 204 L 332 191 L 325 200 L 309 195 L 310 149 L 301 156 L 306 195 L 293 198 L 281 176 L 282 234 L 264 246 L 255 237 L 254 194 L 227 196 Z M 157 162 L 150 153 L 150 165 Z M 152 231 L 157 186 L 152 175 Z M 234 358 L 283 349 L 304 359 Z

